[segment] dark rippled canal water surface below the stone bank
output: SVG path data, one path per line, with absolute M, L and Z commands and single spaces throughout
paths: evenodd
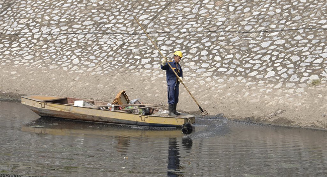
M 324 176 L 327 132 L 196 119 L 195 132 L 39 118 L 0 102 L 0 176 Z

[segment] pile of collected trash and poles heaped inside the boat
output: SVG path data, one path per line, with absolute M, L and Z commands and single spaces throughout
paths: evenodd
M 167 110 L 154 109 L 154 107 L 161 107 L 162 104 L 144 104 L 139 98 L 129 100 L 125 90 L 120 91 L 112 103 L 104 106 L 95 106 L 94 102 L 85 100 L 74 101 L 74 106 L 90 107 L 109 111 L 128 112 L 133 114 L 151 115 L 154 113 L 168 113 Z

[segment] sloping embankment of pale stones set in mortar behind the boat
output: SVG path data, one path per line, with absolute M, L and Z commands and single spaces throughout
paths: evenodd
M 211 115 L 327 126 L 324 1 L 0 1 L 0 92 L 167 104 L 161 56 Z M 178 110 L 199 113 L 181 88 Z

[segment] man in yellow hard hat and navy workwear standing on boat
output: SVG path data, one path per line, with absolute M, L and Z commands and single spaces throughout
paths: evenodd
M 174 53 L 174 60 L 167 62 L 167 57 L 161 60 L 161 69 L 166 70 L 166 78 L 168 85 L 168 110 L 170 116 L 181 115 L 181 113 L 176 111 L 177 103 L 178 103 L 178 95 L 179 95 L 179 85 L 183 82 L 183 71 L 182 67 L 179 64 L 183 57 L 181 51 L 176 51 Z M 172 68 L 168 65 L 168 63 L 172 66 L 173 70 L 177 73 L 173 72 Z

